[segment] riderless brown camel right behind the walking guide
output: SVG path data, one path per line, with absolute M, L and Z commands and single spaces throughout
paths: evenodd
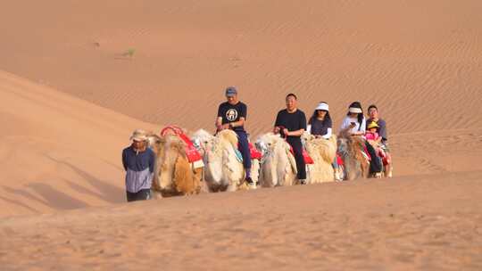
M 190 195 L 203 190 L 203 165 L 189 163 L 186 143 L 174 134 L 147 136 L 156 153 L 152 192 L 154 197 Z

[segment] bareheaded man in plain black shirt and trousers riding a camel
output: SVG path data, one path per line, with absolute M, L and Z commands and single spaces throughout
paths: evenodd
M 295 152 L 296 169 L 300 184 L 306 184 L 306 168 L 303 159 L 303 144 L 301 136 L 306 130 L 306 116 L 297 108 L 297 97 L 295 94 L 287 94 L 287 109 L 278 112 L 276 117 L 274 133 L 280 133 L 287 137 L 287 143 L 293 147 Z

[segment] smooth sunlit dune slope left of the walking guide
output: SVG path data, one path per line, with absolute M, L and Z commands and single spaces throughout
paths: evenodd
M 125 201 L 120 151 L 151 127 L 0 72 L 0 217 Z

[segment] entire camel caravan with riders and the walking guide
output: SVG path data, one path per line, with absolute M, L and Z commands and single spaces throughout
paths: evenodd
M 386 124 L 375 105 L 367 120 L 360 103 L 350 104 L 336 136 L 328 103 L 321 102 L 306 121 L 297 97 L 288 94 L 273 131 L 252 144 L 244 130 L 245 104 L 237 101 L 236 88 L 228 88 L 226 96 L 215 133 L 187 134 L 176 126 L 159 134 L 134 132 L 122 152 L 128 201 L 392 177 Z

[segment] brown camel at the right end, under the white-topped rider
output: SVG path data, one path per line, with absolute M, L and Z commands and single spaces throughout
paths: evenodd
M 353 180 L 357 177 L 368 177 L 370 162 L 364 152 L 364 139 L 360 136 L 338 136 L 337 152 L 344 161 L 345 179 Z

